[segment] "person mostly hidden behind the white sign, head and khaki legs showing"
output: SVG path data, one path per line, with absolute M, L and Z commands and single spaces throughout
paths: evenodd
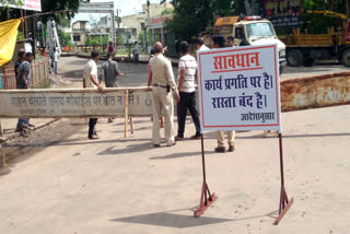
M 222 35 L 215 35 L 212 37 L 213 47 L 214 48 L 223 48 L 225 47 L 225 38 Z M 228 136 L 228 143 L 229 143 L 229 152 L 233 152 L 235 147 L 235 131 L 225 131 Z M 226 148 L 224 147 L 224 131 L 217 131 L 217 140 L 218 147 L 214 149 L 215 152 L 224 153 Z

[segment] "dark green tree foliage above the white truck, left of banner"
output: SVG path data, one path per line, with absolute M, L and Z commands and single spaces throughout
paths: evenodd
M 179 39 L 191 40 L 199 34 L 211 33 L 214 15 L 234 15 L 236 3 L 233 0 L 173 0 L 174 19 L 167 21 L 166 30 Z

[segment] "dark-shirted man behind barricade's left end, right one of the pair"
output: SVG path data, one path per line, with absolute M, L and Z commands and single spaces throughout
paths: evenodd
M 22 61 L 19 67 L 19 74 L 16 77 L 19 90 L 30 90 L 32 61 L 33 54 L 26 52 L 24 61 Z M 30 118 L 19 118 L 15 131 L 24 131 L 28 127 L 34 127 L 33 125 L 30 125 Z

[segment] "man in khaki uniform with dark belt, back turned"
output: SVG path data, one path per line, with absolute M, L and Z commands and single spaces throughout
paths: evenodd
M 165 118 L 165 140 L 166 145 L 175 144 L 174 138 L 174 101 L 173 91 L 179 102 L 179 95 L 174 80 L 172 63 L 163 56 L 163 45 L 158 42 L 154 44 L 155 56 L 150 60 L 152 70 L 151 79 L 153 83 L 153 147 L 161 145 L 160 119 L 162 113 Z

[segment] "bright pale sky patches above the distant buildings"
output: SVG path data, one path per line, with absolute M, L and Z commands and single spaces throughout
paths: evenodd
M 91 0 L 90 2 L 108 2 L 110 0 Z M 113 1 L 113 0 L 112 0 Z M 150 0 L 151 3 L 160 3 L 161 0 Z M 136 14 L 142 10 L 142 4 L 145 4 L 147 0 L 114 0 L 114 7 L 115 9 L 119 9 L 119 15 L 130 15 Z M 75 21 L 98 21 L 100 16 L 104 16 L 105 14 L 88 14 L 88 13 L 81 13 L 75 14 L 72 22 Z

